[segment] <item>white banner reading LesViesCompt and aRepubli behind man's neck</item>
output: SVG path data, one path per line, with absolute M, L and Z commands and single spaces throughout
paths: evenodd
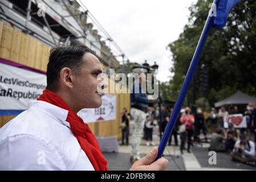
M 26 110 L 46 88 L 46 75 L 0 63 L 0 110 Z

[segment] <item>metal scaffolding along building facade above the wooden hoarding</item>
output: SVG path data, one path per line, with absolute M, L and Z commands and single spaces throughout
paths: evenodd
M 101 35 L 97 30 L 92 30 L 92 26 L 90 28 L 87 23 L 88 18 Z M 121 48 L 80 0 L 1 0 L 0 19 L 52 47 L 59 45 L 90 46 L 96 50 L 100 61 L 109 68 L 111 65 L 112 67 L 119 65 L 117 61 L 119 56 L 115 55 L 122 55 L 123 64 L 125 58 L 128 60 Z M 105 41 L 109 42 L 109 46 L 105 44 Z M 111 45 L 117 51 L 111 49 Z

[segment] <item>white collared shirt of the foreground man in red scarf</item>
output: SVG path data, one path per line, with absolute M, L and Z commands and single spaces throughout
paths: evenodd
M 66 121 L 68 111 L 31 101 L 0 129 L 0 170 L 94 170 Z

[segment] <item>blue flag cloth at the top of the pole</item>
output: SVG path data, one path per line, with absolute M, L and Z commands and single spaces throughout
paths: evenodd
M 241 0 L 219 0 L 217 5 L 217 15 L 214 17 L 213 27 L 223 28 L 226 26 L 227 16 L 230 10 Z

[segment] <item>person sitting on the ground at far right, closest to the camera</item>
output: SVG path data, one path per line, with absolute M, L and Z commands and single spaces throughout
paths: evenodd
M 251 140 L 247 140 L 246 134 L 242 133 L 240 139 L 235 142 L 234 150 L 230 155 L 233 160 L 242 163 L 256 162 L 255 144 Z

